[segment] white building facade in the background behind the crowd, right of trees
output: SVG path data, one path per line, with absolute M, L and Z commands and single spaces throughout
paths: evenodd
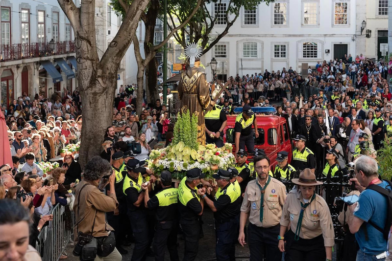
M 211 13 L 224 12 L 227 4 L 213 3 Z M 242 9 L 229 33 L 202 57 L 202 63 L 209 65 L 215 57 L 216 73 L 226 79 L 283 67 L 300 73 L 318 61 L 354 56 L 356 8 L 356 0 L 276 0 L 269 6 L 261 3 L 252 10 Z M 217 30 L 225 27 L 221 17 Z M 209 66 L 206 73 L 211 80 Z

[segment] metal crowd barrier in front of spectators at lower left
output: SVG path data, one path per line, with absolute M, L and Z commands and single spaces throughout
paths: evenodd
M 66 208 L 68 208 L 66 210 Z M 68 212 L 68 213 L 66 213 Z M 36 249 L 42 261 L 58 261 L 71 239 L 74 214 L 68 206 L 57 204 L 51 211 L 53 220 L 38 235 Z

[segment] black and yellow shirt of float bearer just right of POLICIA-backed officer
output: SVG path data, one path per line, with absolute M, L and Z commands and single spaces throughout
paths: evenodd
M 199 213 L 203 210 L 200 204 L 200 196 L 197 189 L 191 189 L 186 183 L 185 176 L 178 185 L 178 210 L 180 212 L 180 223 L 192 224 L 198 222 Z

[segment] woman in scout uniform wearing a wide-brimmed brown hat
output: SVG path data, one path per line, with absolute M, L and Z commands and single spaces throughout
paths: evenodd
M 298 190 L 290 191 L 283 206 L 278 248 L 286 251 L 286 261 L 332 261 L 335 234 L 331 213 L 325 200 L 315 193 L 322 182 L 310 169 L 292 181 Z

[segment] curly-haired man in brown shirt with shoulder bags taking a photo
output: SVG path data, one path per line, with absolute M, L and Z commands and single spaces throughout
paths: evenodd
M 73 211 L 76 226 L 73 230 L 75 248 L 73 254 L 81 261 L 121 261 L 116 249 L 113 228 L 105 220 L 106 212 L 118 206 L 115 182 L 116 175 L 105 159 L 93 157 L 85 166 L 84 178 L 77 185 Z M 100 190 L 107 184 L 110 194 Z

